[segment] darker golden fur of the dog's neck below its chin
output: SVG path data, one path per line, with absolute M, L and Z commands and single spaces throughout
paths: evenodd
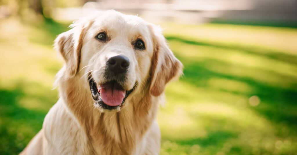
M 135 90 L 119 112 L 100 112 L 92 105 L 94 101 L 90 91 L 80 82 L 82 80 L 77 77 L 61 80 L 59 91 L 69 110 L 85 129 L 94 153 L 133 153 L 154 121 L 158 98 L 152 97 L 146 86 L 138 92 Z

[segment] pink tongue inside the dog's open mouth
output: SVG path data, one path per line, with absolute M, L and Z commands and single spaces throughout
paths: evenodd
M 99 89 L 103 102 L 109 106 L 117 106 L 123 102 L 126 91 L 118 83 L 105 83 Z

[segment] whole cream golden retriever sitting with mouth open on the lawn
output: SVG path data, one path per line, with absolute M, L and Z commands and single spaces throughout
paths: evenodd
M 108 10 L 70 28 L 54 44 L 60 98 L 20 154 L 159 154 L 159 102 L 183 69 L 159 26 Z

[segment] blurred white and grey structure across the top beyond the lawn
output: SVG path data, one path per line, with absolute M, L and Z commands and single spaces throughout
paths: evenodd
M 114 9 L 153 22 L 204 23 L 213 20 L 297 21 L 297 0 L 97 0 L 83 9 L 57 9 L 58 20 L 75 20 L 94 10 Z

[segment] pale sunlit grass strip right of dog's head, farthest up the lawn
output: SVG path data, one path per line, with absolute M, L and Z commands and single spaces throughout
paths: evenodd
M 164 34 L 178 35 L 191 40 L 260 47 L 297 55 L 297 31 L 293 28 L 266 26 L 238 26 L 228 24 L 177 25 L 161 24 Z M 218 45 L 219 45 L 218 44 Z M 269 51 L 269 50 L 268 50 Z M 266 53 L 267 50 L 261 51 Z

